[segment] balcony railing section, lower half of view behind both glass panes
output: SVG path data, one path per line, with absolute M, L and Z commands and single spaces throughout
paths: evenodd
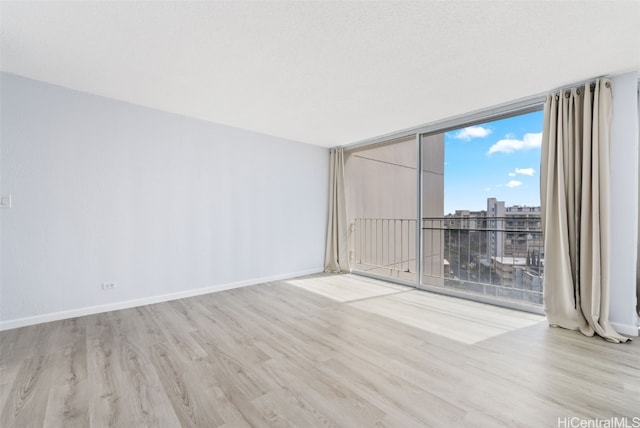
M 425 217 L 422 283 L 542 305 L 544 247 L 539 215 Z M 416 220 L 356 218 L 354 271 L 416 283 Z

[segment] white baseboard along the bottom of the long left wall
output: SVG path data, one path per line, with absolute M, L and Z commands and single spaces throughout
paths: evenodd
M 257 285 L 271 281 L 282 281 L 304 275 L 323 272 L 324 268 L 309 269 L 301 272 L 292 272 L 282 275 L 274 275 L 262 278 L 253 278 L 243 281 L 229 282 L 225 284 L 212 285 L 210 287 L 195 288 L 191 290 L 179 291 L 177 293 L 162 294 L 159 296 L 143 297 L 140 299 L 125 300 L 122 302 L 109 303 L 106 305 L 89 306 L 79 309 L 69 309 L 66 311 L 50 312 L 31 317 L 17 318 L 13 320 L 0 321 L 0 331 L 11 330 L 13 328 L 26 327 L 34 324 L 41 324 L 51 321 L 59 321 L 68 318 L 81 317 L 85 315 L 99 314 L 102 312 L 117 311 L 120 309 L 135 308 L 137 306 L 151 305 L 153 303 L 168 302 L 171 300 L 184 299 L 187 297 L 200 296 L 203 294 L 216 293 L 218 291 L 231 290 L 233 288 Z

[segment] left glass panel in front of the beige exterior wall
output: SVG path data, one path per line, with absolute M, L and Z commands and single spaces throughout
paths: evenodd
M 346 155 L 354 271 L 416 282 L 417 164 L 414 137 Z

